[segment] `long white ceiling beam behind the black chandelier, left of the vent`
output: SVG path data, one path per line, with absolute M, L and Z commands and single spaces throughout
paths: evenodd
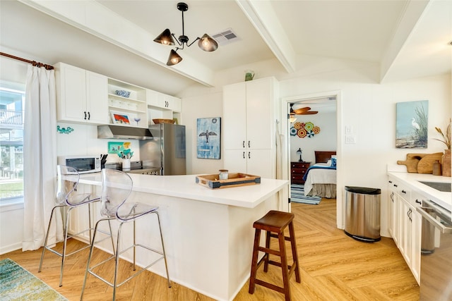
M 32 8 L 47 13 L 73 27 L 104 39 L 137 56 L 152 61 L 186 78 L 213 87 L 213 70 L 184 54 L 184 64 L 168 67 L 169 51 L 161 47 L 152 35 L 143 28 L 113 13 L 97 1 L 41 1 L 18 0 Z

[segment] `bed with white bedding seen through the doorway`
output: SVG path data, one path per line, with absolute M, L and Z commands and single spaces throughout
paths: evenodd
M 304 175 L 304 195 L 326 197 L 335 199 L 336 197 L 336 152 L 316 151 L 316 163 L 309 167 Z M 333 156 L 333 160 L 331 159 Z

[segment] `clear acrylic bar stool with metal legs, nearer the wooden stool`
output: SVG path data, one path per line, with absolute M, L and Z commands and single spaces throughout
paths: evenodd
M 83 287 L 81 292 L 81 300 L 83 300 L 83 293 L 85 291 L 86 287 L 86 281 L 88 278 L 88 274 L 91 274 L 95 276 L 96 278 L 104 281 L 108 285 L 112 286 L 113 288 L 113 300 L 116 298 L 116 290 L 119 286 L 123 285 L 127 281 L 129 281 L 131 278 L 138 276 L 141 274 L 141 272 L 148 269 L 150 266 L 153 266 L 155 263 L 159 262 L 161 259 L 165 260 L 165 269 L 167 272 L 167 282 L 168 287 L 171 287 L 171 282 L 169 281 L 169 273 L 168 273 L 168 267 L 167 267 L 167 258 L 165 254 L 165 245 L 163 243 L 163 235 L 162 235 L 162 228 L 160 226 L 160 217 L 158 214 L 158 207 L 151 206 L 148 204 L 143 204 L 140 202 L 126 202 L 129 195 L 131 194 L 133 188 L 133 181 L 129 174 L 124 173 L 123 171 L 117 171 L 113 169 L 102 169 L 102 194 L 100 197 L 101 200 L 101 211 L 100 214 L 102 216 L 105 216 L 102 219 L 99 219 L 95 225 L 95 231 L 93 235 L 93 243 L 91 245 L 90 255 L 88 257 L 88 264 L 86 266 L 85 271 L 85 279 L 83 281 Z M 160 240 L 162 242 L 162 251 L 155 250 L 152 247 L 149 247 L 147 245 L 143 245 L 141 243 L 136 243 L 136 220 L 139 218 L 142 218 L 144 216 L 148 216 L 150 214 L 155 214 L 157 216 L 157 223 L 159 226 L 160 231 Z M 93 266 L 90 266 L 91 259 L 93 258 L 93 251 L 95 249 L 96 242 L 96 234 L 100 231 L 99 226 L 100 223 L 107 221 L 110 226 L 110 222 L 113 220 L 117 220 L 119 222 L 119 227 L 117 230 L 117 243 L 116 247 L 114 247 L 113 255 L 110 256 L 108 259 L 105 259 L 104 261 L 94 264 Z M 127 223 L 129 221 L 133 222 L 133 244 L 129 247 L 121 247 L 121 228 L 124 225 L 124 223 Z M 111 229 L 111 226 L 109 227 Z M 143 229 L 145 231 L 150 231 L 149 228 Z M 128 250 L 133 249 L 133 271 L 136 270 L 136 247 L 141 247 L 144 250 L 149 250 L 150 252 L 153 252 L 154 254 L 157 254 L 159 257 L 157 259 L 153 259 L 153 262 L 148 264 L 148 266 L 145 266 L 144 268 L 137 271 L 135 274 L 130 276 L 129 278 L 126 278 L 121 283 L 119 282 L 118 277 L 118 267 L 119 267 L 119 256 L 121 254 L 124 254 L 124 252 L 127 252 Z M 110 262 L 110 260 L 114 259 L 114 280 L 113 283 L 110 281 L 107 281 L 103 275 L 101 276 L 101 269 L 100 266 L 103 264 L 107 264 Z

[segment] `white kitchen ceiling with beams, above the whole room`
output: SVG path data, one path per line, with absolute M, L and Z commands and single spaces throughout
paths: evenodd
M 105 25 L 112 27 L 109 37 L 83 24 L 81 17 L 90 16 L 77 14 L 82 3 L 99 13 L 97 22 L 100 13 L 113 17 Z M 178 51 L 184 61 L 167 67 L 171 48 L 152 39 L 165 28 L 182 35 L 177 1 L 0 1 L 1 51 L 64 61 L 168 94 L 211 85 L 215 72 L 268 59 L 278 59 L 291 73 L 300 56 L 379 63 L 382 82 L 451 73 L 451 0 L 186 3 L 185 35 L 191 40 L 231 28 L 238 41 L 213 52 L 195 43 Z

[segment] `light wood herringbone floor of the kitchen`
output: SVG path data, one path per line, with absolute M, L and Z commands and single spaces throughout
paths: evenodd
M 380 242 L 366 243 L 349 238 L 335 226 L 334 199 L 322 199 L 319 205 L 292 203 L 292 211 L 295 213 L 302 276 L 302 283 L 295 282 L 295 275 L 290 279 L 292 300 L 419 300 L 419 287 L 393 240 L 382 238 Z M 80 244 L 72 240 L 69 248 Z M 37 273 L 41 252 L 42 249 L 33 252 L 18 250 L 0 255 L 0 259 L 14 260 L 69 300 L 80 300 L 88 250 L 66 259 L 64 285 L 61 288 L 58 286 L 59 257 L 46 253 L 43 271 Z M 121 270 L 129 266 L 129 263 L 121 262 Z M 263 273 L 261 266 L 258 278 L 278 285 L 282 283 L 280 269 L 276 266 L 270 266 L 268 274 Z M 83 300 L 111 298 L 111 288 L 93 276 L 88 278 Z M 145 271 L 118 289 L 117 300 L 213 299 L 177 283 L 167 288 L 165 278 Z M 284 297 L 260 285 L 256 285 L 255 293 L 250 295 L 246 283 L 234 300 L 283 301 Z

